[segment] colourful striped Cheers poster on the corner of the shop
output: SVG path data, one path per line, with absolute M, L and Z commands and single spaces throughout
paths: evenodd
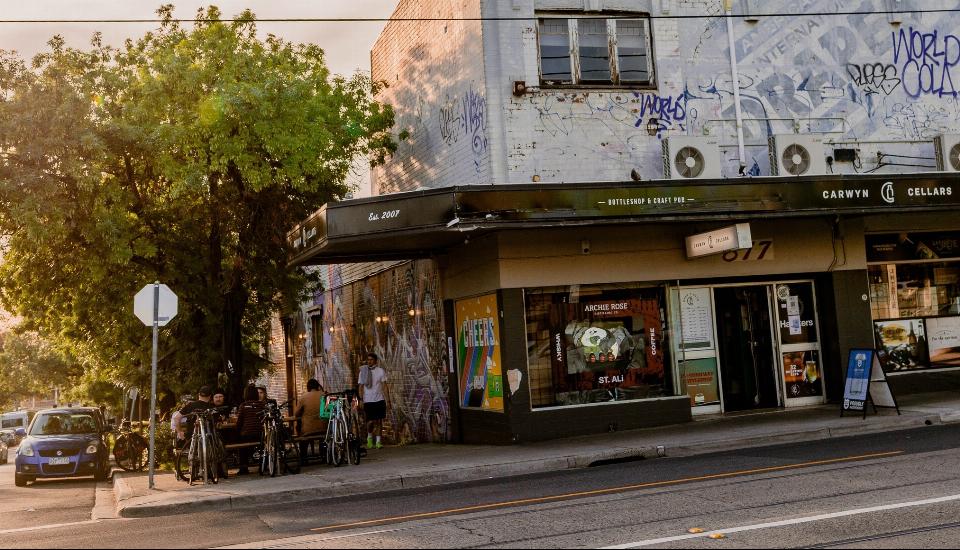
M 457 300 L 460 406 L 503 412 L 497 295 Z

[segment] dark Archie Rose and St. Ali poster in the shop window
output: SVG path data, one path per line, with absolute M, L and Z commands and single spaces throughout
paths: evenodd
M 660 291 L 608 291 L 581 300 L 554 304 L 551 315 L 558 404 L 662 396 Z

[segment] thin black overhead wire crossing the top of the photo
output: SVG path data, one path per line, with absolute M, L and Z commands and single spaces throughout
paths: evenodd
M 544 13 L 532 17 L 282 17 L 282 18 L 256 18 L 255 23 L 387 23 L 387 22 L 455 22 L 455 21 L 535 21 L 543 17 L 562 17 L 563 19 L 762 19 L 770 17 L 830 17 L 830 16 L 849 16 L 849 15 L 925 15 L 937 13 L 960 13 L 960 8 L 943 8 L 933 10 L 883 10 L 883 11 L 835 11 L 835 12 L 810 12 L 810 13 L 751 13 L 751 14 L 699 14 L 699 15 L 647 15 L 647 14 L 561 14 L 558 12 Z M 89 24 L 89 23 L 163 23 L 164 21 L 175 23 L 195 23 L 196 19 L 0 19 L 0 24 L 41 24 L 41 23 L 63 23 L 63 24 Z M 249 22 L 249 19 L 231 18 L 219 19 L 221 23 L 239 23 Z

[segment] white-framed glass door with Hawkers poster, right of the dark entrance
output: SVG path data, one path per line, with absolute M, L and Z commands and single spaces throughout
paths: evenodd
M 823 361 L 813 282 L 777 283 L 774 295 L 785 405 L 822 404 Z

